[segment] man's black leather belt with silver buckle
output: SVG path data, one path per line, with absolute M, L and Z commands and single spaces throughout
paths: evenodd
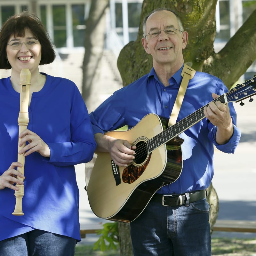
M 197 190 L 191 193 L 188 193 L 189 196 L 189 203 L 193 203 L 197 200 L 203 199 L 206 196 L 206 190 Z M 152 199 L 154 202 L 162 202 L 164 206 L 179 206 L 186 204 L 187 196 L 185 194 L 173 194 L 173 195 L 162 195 L 162 194 L 155 194 Z

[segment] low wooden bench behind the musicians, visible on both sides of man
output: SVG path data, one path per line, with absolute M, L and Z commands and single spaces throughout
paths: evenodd
M 98 230 L 103 228 L 102 223 L 92 225 L 83 225 L 80 228 L 81 238 L 85 238 L 86 234 L 96 234 Z M 249 232 L 256 233 L 256 221 L 249 220 L 216 220 L 213 231 L 226 232 Z

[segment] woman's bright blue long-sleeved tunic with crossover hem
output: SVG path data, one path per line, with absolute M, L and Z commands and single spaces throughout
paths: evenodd
M 12 215 L 14 190 L 0 190 L 0 241 L 33 229 L 81 240 L 74 165 L 90 161 L 96 143 L 76 84 L 46 76 L 42 90 L 32 94 L 28 129 L 48 144 L 51 157 L 37 152 L 25 157 L 23 216 Z M 18 157 L 20 93 L 12 88 L 10 77 L 0 80 L 0 109 L 2 175 Z

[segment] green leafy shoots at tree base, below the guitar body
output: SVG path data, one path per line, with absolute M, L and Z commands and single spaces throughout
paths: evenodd
M 103 224 L 103 228 L 97 232 L 97 235 L 100 235 L 100 238 L 94 243 L 93 250 L 100 248 L 104 252 L 110 249 L 117 249 L 116 246 L 119 244 L 117 222 Z

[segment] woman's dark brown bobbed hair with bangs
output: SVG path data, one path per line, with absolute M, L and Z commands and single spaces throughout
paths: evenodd
M 13 15 L 4 22 L 0 31 L 0 68 L 12 68 L 7 61 L 6 46 L 8 40 L 13 35 L 14 37 L 25 36 L 25 30 L 29 29 L 35 38 L 41 44 L 41 61 L 39 65 L 49 64 L 56 57 L 54 47 L 47 30 L 44 28 L 41 20 L 31 12 L 24 11 L 19 15 Z

